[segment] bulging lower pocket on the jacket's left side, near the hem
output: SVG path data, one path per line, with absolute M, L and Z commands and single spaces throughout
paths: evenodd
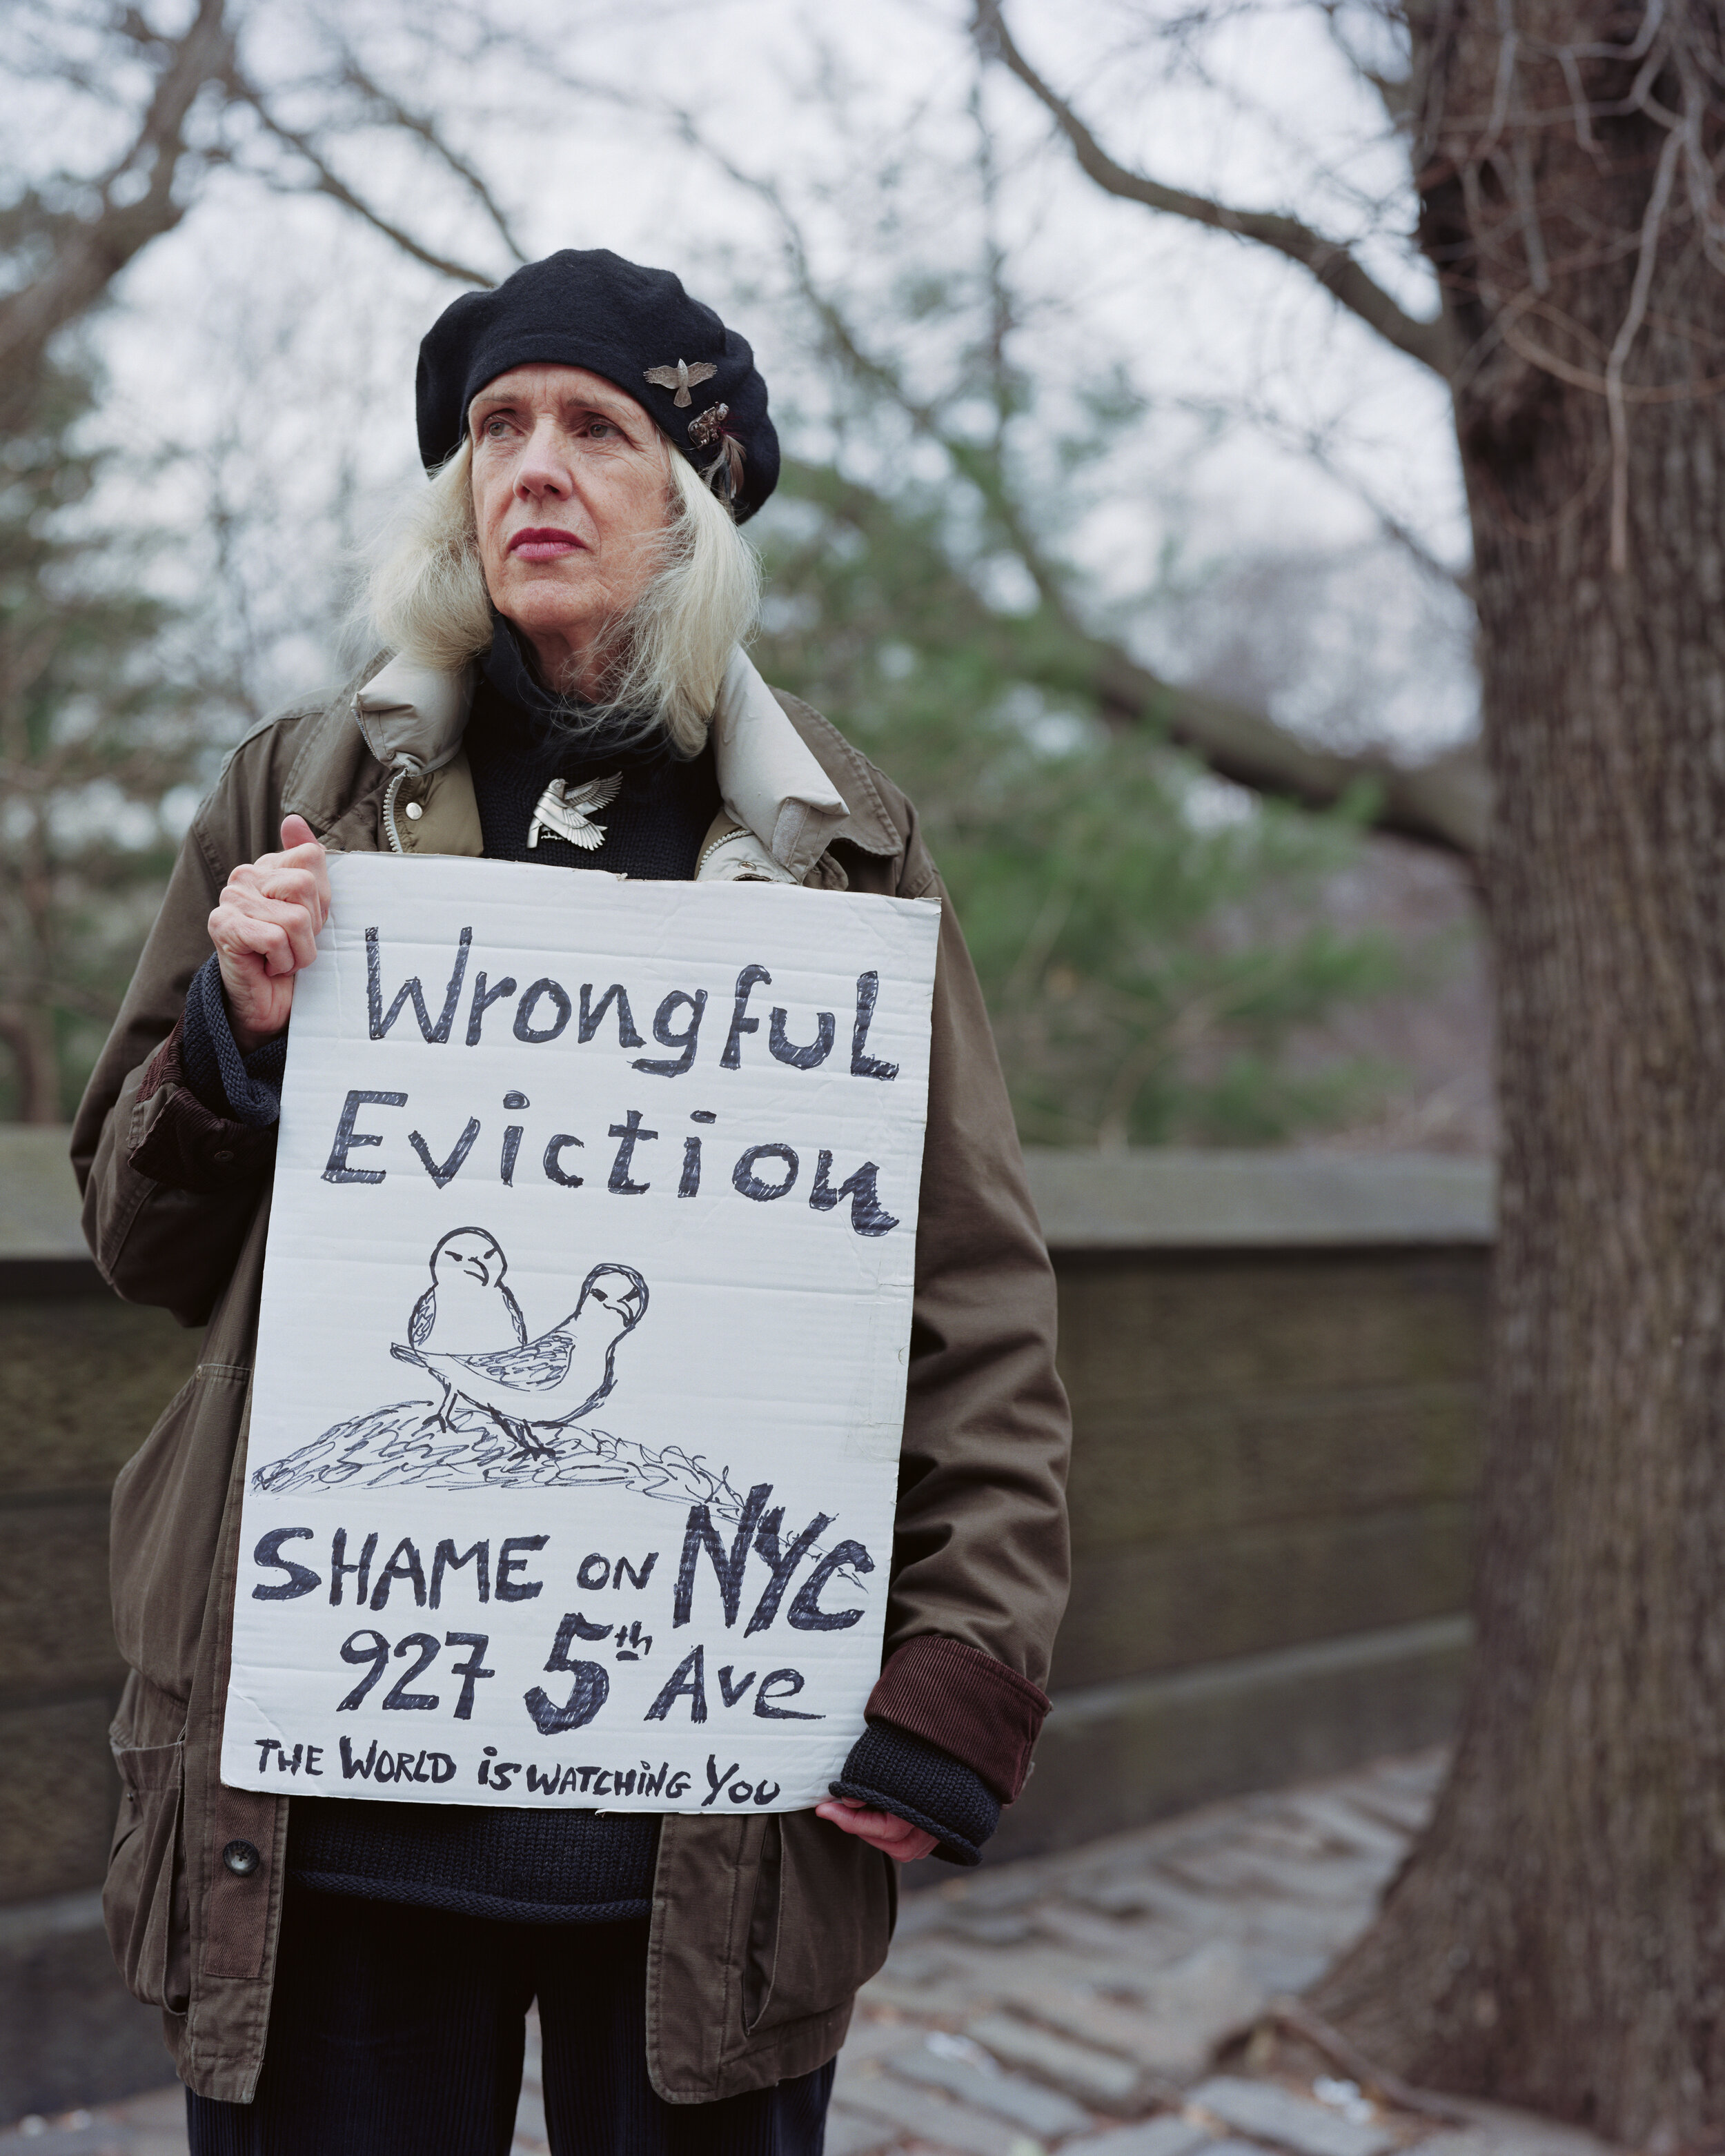
M 127 1703 L 136 1703 L 140 1690 L 147 1688 L 134 1677 Z M 157 1703 L 168 1705 L 160 1695 Z M 108 1850 L 101 1917 L 132 1996 L 183 2014 L 192 1990 L 192 1912 L 179 1839 L 185 1740 L 177 1736 L 170 1744 L 136 1742 L 149 1733 L 138 1720 L 160 1718 L 160 1714 L 134 1718 L 123 1703 L 108 1731 L 123 1789 Z

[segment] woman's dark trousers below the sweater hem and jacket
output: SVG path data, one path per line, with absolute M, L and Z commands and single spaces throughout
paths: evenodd
M 822 2156 L 832 2068 L 720 2104 L 647 2081 L 647 1921 L 496 1923 L 289 1882 L 257 2102 L 192 2156 L 507 2156 L 539 2001 L 554 2156 Z

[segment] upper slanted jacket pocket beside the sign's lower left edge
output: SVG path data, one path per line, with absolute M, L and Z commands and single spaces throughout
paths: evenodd
M 151 1688 L 188 1699 L 222 1535 L 250 1369 L 201 1363 L 114 1483 L 114 1639 Z

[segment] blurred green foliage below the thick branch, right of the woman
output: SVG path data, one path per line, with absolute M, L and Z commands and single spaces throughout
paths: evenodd
M 1283 1054 L 1406 979 L 1393 938 L 1322 916 L 1358 815 L 1255 802 L 1110 729 L 1082 640 L 979 593 L 942 489 L 802 464 L 781 487 L 757 662 L 916 802 L 1024 1138 L 1264 1143 L 1369 1106 L 1391 1072 Z

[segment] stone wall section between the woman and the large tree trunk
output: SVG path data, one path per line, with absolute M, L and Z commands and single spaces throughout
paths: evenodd
M 1041 1153 L 1074 1585 L 992 1856 L 1440 1738 L 1466 1660 L 1490 1171 Z

